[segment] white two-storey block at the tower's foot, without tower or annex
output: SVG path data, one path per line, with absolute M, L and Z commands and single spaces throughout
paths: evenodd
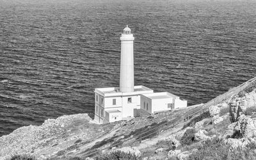
M 134 92 L 120 92 L 120 88 L 96 88 L 95 89 L 95 118 L 99 124 L 115 122 L 122 118 L 133 117 L 137 115 L 137 109 L 140 109 L 140 95 L 153 93 L 154 91 L 145 86 L 134 86 Z M 116 111 L 118 118 L 111 119 L 109 114 Z M 115 116 L 113 116 L 115 117 Z M 111 120 L 110 120 L 111 119 Z

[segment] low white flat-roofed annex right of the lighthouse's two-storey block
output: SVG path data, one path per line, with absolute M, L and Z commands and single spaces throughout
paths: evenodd
M 186 100 L 168 92 L 148 93 L 141 95 L 140 108 L 150 114 L 187 107 Z

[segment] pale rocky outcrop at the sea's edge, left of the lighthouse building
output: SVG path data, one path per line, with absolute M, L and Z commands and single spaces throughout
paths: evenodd
M 79 125 L 81 124 L 86 124 L 87 126 L 95 125 L 92 124 L 92 119 L 87 114 L 77 114 L 45 120 L 44 124 L 40 126 L 29 125 L 20 127 L 11 134 L 0 137 L 0 159 L 5 159 L 13 154 L 29 153 L 39 159 L 46 159 L 60 151 L 60 141 L 64 144 L 67 141 L 73 141 L 79 137 L 84 137 L 86 140 L 86 138 L 90 138 L 92 132 L 94 132 L 92 134 L 93 136 L 97 134 L 95 131 L 79 131 L 81 129 Z M 52 147 L 52 145 L 55 146 Z M 65 143 L 65 145 L 67 148 L 68 145 L 73 144 Z

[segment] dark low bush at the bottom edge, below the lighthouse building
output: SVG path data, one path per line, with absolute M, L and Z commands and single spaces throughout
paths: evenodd
M 99 154 L 94 159 L 97 160 L 119 160 L 119 159 L 131 159 L 131 160 L 136 160 L 139 159 L 135 154 L 131 153 L 125 153 L 120 150 L 116 150 L 115 152 L 109 152 L 106 154 Z

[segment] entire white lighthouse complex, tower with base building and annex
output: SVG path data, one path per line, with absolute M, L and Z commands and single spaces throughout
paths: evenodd
M 145 86 L 134 86 L 134 36 L 128 26 L 124 29 L 120 40 L 120 87 L 95 88 L 95 121 L 103 124 L 137 116 L 138 109 L 144 109 L 141 108 L 141 99 L 148 100 L 148 105 L 150 105 L 148 110 L 146 109 L 148 113 L 168 110 L 168 104 L 173 104 L 174 108 L 186 106 L 185 102 L 179 101 L 179 97 L 170 93 L 154 93 L 153 90 Z M 154 94 L 156 94 L 155 97 Z M 148 97 L 150 96 L 151 98 L 154 97 L 154 99 L 149 100 Z M 157 99 L 157 96 L 166 98 Z M 157 103 L 159 104 L 158 106 Z

